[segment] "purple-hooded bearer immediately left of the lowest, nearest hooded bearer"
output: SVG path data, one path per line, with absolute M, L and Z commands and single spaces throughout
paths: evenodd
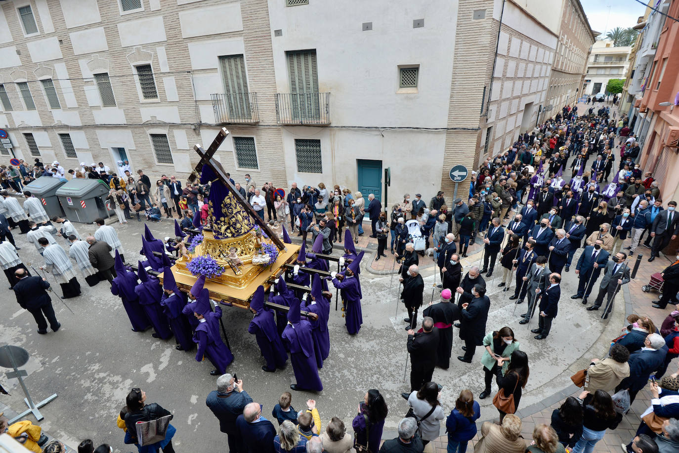
M 288 361 L 288 354 L 276 329 L 274 313 L 264 307 L 264 287 L 259 286 L 250 301 L 250 311 L 255 317 L 250 321 L 248 332 L 257 340 L 261 355 L 266 365 L 261 367 L 265 372 L 273 373 L 276 368 L 283 369 Z

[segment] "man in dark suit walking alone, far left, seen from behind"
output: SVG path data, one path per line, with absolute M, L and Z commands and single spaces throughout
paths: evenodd
M 29 276 L 29 273 L 22 268 L 14 271 L 14 276 L 18 280 L 14 284 L 16 302 L 19 303 L 21 308 L 25 308 L 33 314 L 35 322 L 38 323 L 38 333 L 41 335 L 47 333 L 47 321 L 50 322 L 50 328 L 53 331 L 58 331 L 61 325 L 56 321 L 52 299 L 45 291 L 50 287 L 47 280 L 35 275 Z M 47 321 L 45 321 L 45 317 Z

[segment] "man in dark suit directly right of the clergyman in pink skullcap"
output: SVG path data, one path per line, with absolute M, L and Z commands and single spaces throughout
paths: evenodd
M 485 336 L 485 323 L 488 321 L 490 299 L 485 295 L 485 285 L 474 285 L 472 288 L 473 299 L 471 302 L 462 304 L 462 317 L 460 319 L 460 338 L 464 340 L 463 356 L 458 360 L 471 363 L 477 346 L 483 344 Z

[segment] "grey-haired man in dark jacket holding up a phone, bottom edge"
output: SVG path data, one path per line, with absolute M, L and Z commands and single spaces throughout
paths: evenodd
M 222 374 L 217 378 L 217 390 L 211 391 L 205 400 L 207 407 L 219 420 L 219 431 L 226 433 L 229 452 L 241 450 L 242 439 L 236 428 L 236 419 L 243 413 L 245 406 L 253 399 L 243 390 L 243 381 L 236 381 L 230 374 Z

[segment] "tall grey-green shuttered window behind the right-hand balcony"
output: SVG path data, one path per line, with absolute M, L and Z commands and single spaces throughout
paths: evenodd
M 318 120 L 320 99 L 316 50 L 295 50 L 287 52 L 287 56 L 293 118 L 300 121 Z

